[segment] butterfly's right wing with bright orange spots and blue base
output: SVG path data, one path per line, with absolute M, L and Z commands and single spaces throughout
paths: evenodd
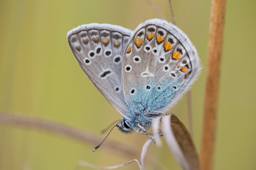
M 166 111 L 200 70 L 198 53 L 187 35 L 161 19 L 134 30 L 123 60 L 124 96 L 134 113 Z

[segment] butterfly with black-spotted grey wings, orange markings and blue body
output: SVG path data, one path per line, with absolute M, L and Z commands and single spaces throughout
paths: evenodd
M 70 30 L 67 38 L 87 77 L 122 115 L 122 132 L 146 132 L 200 71 L 198 52 L 188 36 L 157 18 L 134 31 L 89 23 Z

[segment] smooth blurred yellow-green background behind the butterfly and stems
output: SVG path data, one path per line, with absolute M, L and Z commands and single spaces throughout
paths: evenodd
M 152 2 L 171 21 L 168 1 Z M 210 0 L 173 0 L 173 6 L 178 27 L 196 46 L 204 66 L 192 88 L 194 141 L 199 151 Z M 215 169 L 256 169 L 255 8 L 255 0 L 227 4 Z M 134 30 L 149 18 L 160 16 L 144 0 L 1 0 L 0 111 L 58 121 L 103 138 L 100 130 L 120 115 L 78 66 L 66 33 L 84 23 L 112 23 Z M 171 111 L 188 125 L 186 96 Z M 118 130 L 109 138 L 107 142 L 127 143 L 139 151 L 147 139 Z M 120 157 L 104 146 L 92 152 L 93 147 L 48 132 L 0 124 L 1 170 L 71 170 L 80 160 L 112 166 L 139 159 Z M 148 155 L 168 169 L 181 169 L 167 148 L 151 145 Z M 122 169 L 138 168 L 131 164 Z

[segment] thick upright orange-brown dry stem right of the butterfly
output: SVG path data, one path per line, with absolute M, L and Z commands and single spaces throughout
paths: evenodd
M 210 37 L 208 42 L 208 63 L 206 96 L 201 140 L 201 170 L 213 169 L 215 130 L 218 111 L 218 89 L 220 81 L 220 58 L 223 47 L 223 30 L 226 0 L 213 0 L 210 11 Z

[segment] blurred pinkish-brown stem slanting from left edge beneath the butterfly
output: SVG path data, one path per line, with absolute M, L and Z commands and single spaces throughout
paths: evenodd
M 42 118 L 28 118 L 26 116 L 0 113 L 0 124 L 20 125 L 26 128 L 46 130 L 47 132 L 64 135 L 90 145 L 98 145 L 102 141 L 102 138 L 95 137 L 95 135 L 85 132 L 84 130 L 78 130 L 76 128 L 71 128 L 68 125 Z M 140 154 L 136 149 L 130 146 L 124 146 L 124 144 L 113 141 L 107 142 L 102 148 L 109 149 L 110 152 L 115 152 L 115 154 L 129 157 L 139 157 Z

